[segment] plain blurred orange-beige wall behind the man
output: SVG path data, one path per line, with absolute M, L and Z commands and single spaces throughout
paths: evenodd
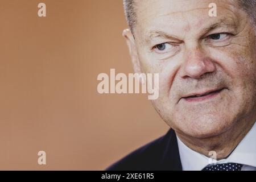
M 1 0 L 0 23 L 0 169 L 105 169 L 168 130 L 146 95 L 97 92 L 133 72 L 121 0 Z

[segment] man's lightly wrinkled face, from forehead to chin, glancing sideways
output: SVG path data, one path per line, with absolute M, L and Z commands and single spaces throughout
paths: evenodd
M 159 73 L 155 109 L 176 131 L 199 138 L 256 113 L 253 26 L 233 1 L 214 1 L 210 17 L 212 2 L 137 0 L 134 29 L 138 70 Z

